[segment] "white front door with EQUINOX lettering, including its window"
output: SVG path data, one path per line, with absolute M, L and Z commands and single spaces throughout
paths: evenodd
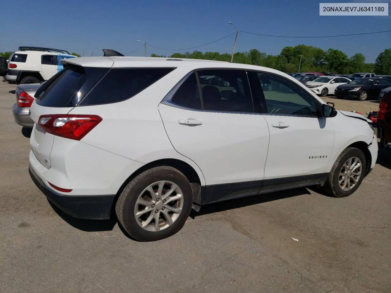
M 317 117 L 319 102 L 283 77 L 264 73 L 258 73 L 258 77 L 265 83 L 278 85 L 263 91 L 264 117 L 270 131 L 264 187 L 267 180 L 310 178 L 310 175 L 330 172 L 327 166 L 334 131 L 330 118 Z

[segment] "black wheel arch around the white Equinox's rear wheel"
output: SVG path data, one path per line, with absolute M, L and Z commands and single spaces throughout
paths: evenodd
M 199 179 L 199 176 L 197 172 L 195 172 L 194 168 L 190 166 L 188 163 L 185 163 L 178 159 L 161 159 L 145 164 L 144 166 L 140 167 L 138 170 L 133 172 L 125 180 L 125 182 L 121 185 L 120 189 L 118 189 L 118 192 L 115 195 L 113 206 L 111 207 L 111 215 L 115 215 L 115 204 L 117 203 L 118 197 L 120 196 L 122 190 L 124 190 L 124 188 L 127 186 L 127 184 L 129 184 L 129 182 L 133 178 L 135 178 L 137 175 L 141 174 L 142 172 L 158 166 L 170 166 L 178 169 L 183 175 L 185 175 L 187 180 L 189 180 L 190 185 L 192 186 L 194 203 L 197 205 L 201 205 L 201 180 Z

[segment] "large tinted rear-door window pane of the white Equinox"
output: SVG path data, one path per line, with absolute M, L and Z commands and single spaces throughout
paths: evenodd
M 204 110 L 254 112 L 246 71 L 220 69 L 197 73 Z

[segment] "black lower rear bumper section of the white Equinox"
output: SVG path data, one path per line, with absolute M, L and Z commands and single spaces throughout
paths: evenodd
M 42 193 L 61 211 L 79 219 L 109 219 L 115 195 L 63 195 L 49 189 L 30 164 L 29 174 Z

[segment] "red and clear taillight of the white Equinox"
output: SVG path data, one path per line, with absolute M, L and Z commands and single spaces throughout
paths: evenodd
M 42 115 L 38 119 L 47 132 L 63 138 L 80 140 L 102 121 L 97 115 Z

